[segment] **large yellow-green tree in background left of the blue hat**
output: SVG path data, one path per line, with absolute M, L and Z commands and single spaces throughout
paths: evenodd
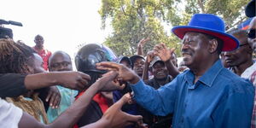
M 163 21 L 178 23 L 176 0 L 102 0 L 99 13 L 102 27 L 107 18 L 111 18 L 113 33 L 104 44 L 117 55 L 135 55 L 137 43 L 142 38 L 150 38 L 144 47 L 144 53 L 153 49 L 155 44 L 165 43 L 178 47 L 178 39 L 170 38 L 164 31 Z M 170 30 L 171 31 L 171 30 Z M 179 51 L 179 50 L 178 50 Z

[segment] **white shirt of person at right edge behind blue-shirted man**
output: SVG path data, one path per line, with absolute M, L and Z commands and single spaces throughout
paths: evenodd
M 241 78 L 249 79 L 253 86 L 256 86 L 256 62 L 254 62 L 253 66 L 248 67 L 242 74 Z M 256 96 L 254 96 L 254 103 L 253 103 L 253 116 L 251 120 L 251 128 L 256 128 Z

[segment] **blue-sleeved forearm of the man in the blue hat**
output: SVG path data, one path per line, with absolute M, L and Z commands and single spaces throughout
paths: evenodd
M 166 84 L 159 90 L 154 90 L 153 87 L 144 84 L 141 80 L 137 84 L 132 84 L 131 90 L 133 90 L 134 99 L 139 105 L 155 115 L 165 116 L 173 112 L 173 103 L 175 101 L 174 86 L 173 84 Z

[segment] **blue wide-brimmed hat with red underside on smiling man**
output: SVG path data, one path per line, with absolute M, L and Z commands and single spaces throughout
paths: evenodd
M 183 39 L 186 32 L 201 32 L 219 38 L 224 42 L 222 51 L 230 51 L 238 48 L 238 40 L 225 33 L 224 20 L 216 15 L 195 14 L 192 16 L 188 26 L 175 26 L 172 32 L 178 38 Z

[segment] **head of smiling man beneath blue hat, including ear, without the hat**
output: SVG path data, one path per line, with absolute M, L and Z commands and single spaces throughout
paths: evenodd
M 202 61 L 218 60 L 222 47 L 223 42 L 211 35 L 186 32 L 182 42 L 184 65 L 190 69 L 204 67 Z

